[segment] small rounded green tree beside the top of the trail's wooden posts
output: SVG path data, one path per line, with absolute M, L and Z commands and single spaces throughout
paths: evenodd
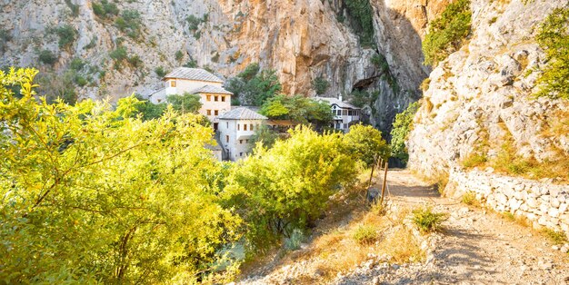
M 390 150 L 382 133 L 371 125 L 356 124 L 350 127 L 350 132 L 344 135 L 344 141 L 349 152 L 367 166 L 374 164 L 375 159 L 389 158 Z

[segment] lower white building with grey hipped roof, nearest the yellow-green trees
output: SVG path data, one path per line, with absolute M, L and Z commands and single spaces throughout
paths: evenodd
M 245 107 L 237 107 L 223 113 L 218 119 L 219 142 L 224 148 L 225 157 L 235 162 L 251 152 L 251 137 L 267 117 Z

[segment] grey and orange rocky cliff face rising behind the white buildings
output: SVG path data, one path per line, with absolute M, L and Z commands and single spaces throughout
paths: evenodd
M 376 47 L 364 47 L 341 0 L 172 0 L 109 1 L 117 15 L 95 15 L 90 0 L 0 1 L 0 25 L 9 34 L 0 66 L 39 66 L 44 73 L 63 74 L 75 57 L 86 66 L 77 71 L 88 81 L 76 85 L 81 97 L 112 99 L 136 92 L 143 95 L 161 86 L 155 68 L 165 71 L 195 61 L 222 76 L 259 62 L 277 71 L 284 92 L 314 95 L 312 81 L 322 76 L 331 86 L 325 95 L 354 89 L 376 93 L 371 121 L 384 131 L 394 114 L 419 98 L 418 85 L 429 70 L 421 63 L 420 41 L 429 19 L 448 0 L 373 0 Z M 140 29 L 133 37 L 116 18 L 139 13 Z M 194 18 L 194 25 L 188 23 Z M 70 25 L 76 36 L 58 46 L 57 28 Z M 118 66 L 110 54 L 125 47 Z M 52 51 L 55 64 L 39 64 L 41 51 Z M 384 55 L 392 78 L 371 63 Z M 140 63 L 129 63 L 138 56 Z M 370 112 L 371 113 L 371 112 Z

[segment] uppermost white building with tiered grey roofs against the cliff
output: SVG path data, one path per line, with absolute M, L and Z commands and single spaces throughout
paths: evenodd
M 201 68 L 178 67 L 166 74 L 165 88 L 148 98 L 151 103 L 163 103 L 168 95 L 199 94 L 202 107 L 198 113 L 205 115 L 217 130 L 217 117 L 231 110 L 231 95 L 223 87 L 223 81 Z

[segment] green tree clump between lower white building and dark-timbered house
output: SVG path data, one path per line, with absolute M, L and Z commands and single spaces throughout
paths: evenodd
M 316 127 L 332 123 L 334 116 L 328 103 L 315 101 L 303 95 L 284 94 L 269 98 L 259 113 L 272 119 L 292 120 L 296 123 L 313 123 Z

